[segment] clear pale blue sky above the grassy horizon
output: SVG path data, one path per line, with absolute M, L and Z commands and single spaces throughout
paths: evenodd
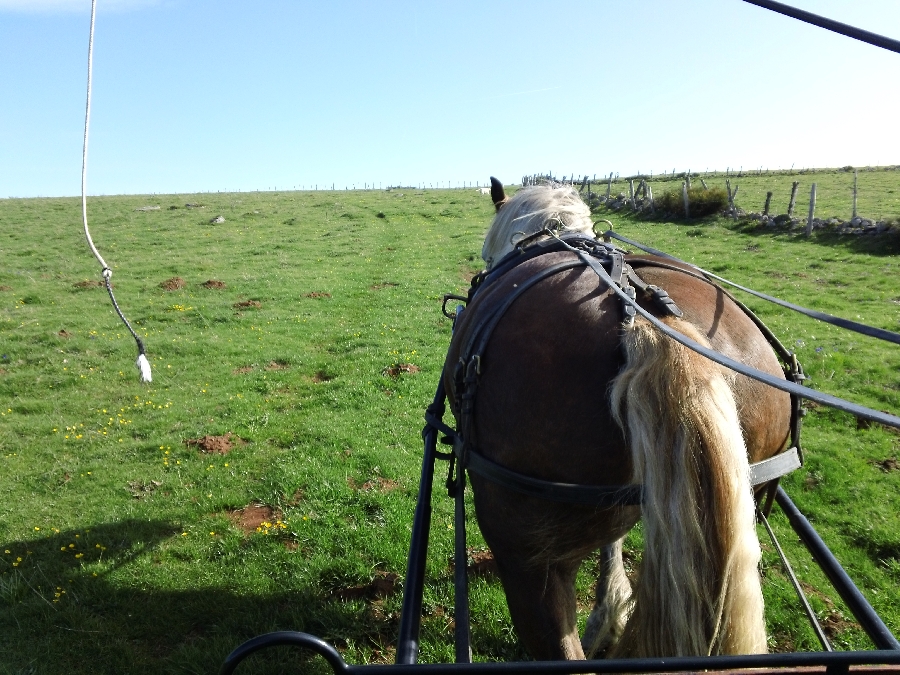
M 90 194 L 900 164 L 900 55 L 740 0 L 97 5 Z M 0 197 L 79 194 L 89 20 L 0 0 Z

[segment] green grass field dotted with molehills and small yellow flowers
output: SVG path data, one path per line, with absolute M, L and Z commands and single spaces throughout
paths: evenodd
M 835 194 L 848 180 L 817 176 L 820 204 L 827 176 Z M 860 173 L 861 215 L 900 213 L 888 192 L 900 173 L 871 172 L 884 181 L 872 206 L 869 176 Z M 739 205 L 758 210 L 742 197 L 760 193 L 761 205 L 771 179 L 742 179 Z M 849 216 L 842 199 L 832 208 Z M 160 209 L 135 210 L 149 205 Z M 449 340 L 440 298 L 480 268 L 489 199 L 125 196 L 92 199 L 89 213 L 154 380 L 139 382 L 134 342 L 93 283 L 79 201 L 0 200 L 0 673 L 215 672 L 240 642 L 277 629 L 319 635 L 353 663 L 392 661 L 422 413 Z M 217 215 L 225 222 L 211 224 Z M 598 217 L 759 290 L 900 329 L 895 236 Z M 896 348 L 747 304 L 797 350 L 812 386 L 900 411 Z M 900 436 L 814 408 L 804 445 L 789 493 L 900 632 Z M 452 660 L 442 482 L 426 662 Z M 784 519 L 773 525 L 836 646 L 870 648 Z M 483 547 L 474 522 L 469 543 Z M 595 565 L 580 582 L 585 615 Z M 764 574 L 771 648 L 816 649 L 771 547 Z M 474 578 L 471 597 L 476 659 L 525 658 L 496 579 Z M 276 651 L 244 672 L 281 672 L 297 658 Z

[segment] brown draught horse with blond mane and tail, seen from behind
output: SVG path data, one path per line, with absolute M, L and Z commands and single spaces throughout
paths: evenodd
M 550 236 L 596 241 L 590 210 L 572 187 L 526 187 L 508 197 L 491 182 L 496 214 L 482 277 Z M 639 485 L 641 497 L 570 504 L 469 470 L 476 518 L 520 640 L 538 660 L 764 653 L 748 467 L 786 449 L 789 396 L 722 368 L 646 319 L 631 320 L 585 266 L 534 281 L 574 258 L 571 251 L 522 257 L 475 292 L 456 321 L 443 386 L 458 442 L 521 476 Z M 625 261 L 680 308 L 680 317 L 666 314 L 637 295 L 667 326 L 784 377 L 760 329 L 721 288 L 670 260 Z M 466 346 L 486 325 L 486 345 L 467 361 Z M 477 388 L 467 390 L 473 381 Z M 632 589 L 622 542 L 638 520 L 644 548 Z M 596 598 L 579 640 L 575 576 L 598 549 Z

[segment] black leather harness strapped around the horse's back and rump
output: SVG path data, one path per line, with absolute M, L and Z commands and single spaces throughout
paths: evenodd
M 539 236 L 550 235 L 550 239 L 535 242 Z M 426 411 L 425 419 L 429 426 L 434 427 L 444 434 L 442 443 L 453 445 L 453 454 L 444 455 L 450 461 L 447 488 L 451 496 L 458 485 L 453 478 L 454 464 L 459 462 L 459 469 L 468 469 L 493 483 L 510 488 L 521 494 L 540 497 L 554 502 L 591 505 L 595 507 L 608 506 L 637 506 L 642 502 L 641 485 L 581 485 L 574 483 L 560 483 L 546 481 L 512 471 L 496 462 L 484 457 L 474 446 L 471 439 L 474 438 L 475 397 L 478 389 L 478 380 L 481 375 L 481 355 L 484 354 L 491 335 L 512 304 L 528 289 L 541 281 L 562 271 L 577 267 L 594 267 L 592 262 L 603 266 L 609 279 L 616 284 L 624 294 L 633 302 L 638 292 L 650 299 L 656 308 L 669 316 L 682 316 L 681 310 L 675 304 L 669 294 L 654 285 L 645 283 L 634 271 L 634 266 L 662 267 L 673 269 L 693 277 L 702 279 L 719 288 L 730 297 L 748 315 L 748 317 L 762 331 L 768 342 L 772 345 L 778 356 L 785 362 L 785 376 L 793 381 L 804 379 L 802 368 L 797 363 L 796 357 L 784 348 L 769 329 L 754 315 L 745 305 L 738 302 L 730 293 L 713 284 L 708 278 L 689 268 L 677 264 L 669 264 L 658 260 L 643 258 L 629 258 L 626 262 L 624 251 L 612 244 L 597 241 L 583 234 L 571 234 L 562 236 L 547 230 L 518 242 L 517 247 L 505 256 L 490 271 L 480 272 L 472 279 L 467 297 L 456 295 L 444 296 L 444 313 L 454 316 L 446 311 L 446 303 L 450 299 L 461 300 L 467 304 L 476 294 L 482 293 L 485 288 L 495 282 L 506 272 L 514 267 L 541 255 L 557 251 L 576 251 L 579 257 L 563 260 L 549 265 L 528 277 L 524 282 L 516 285 L 514 291 L 509 293 L 494 308 L 493 312 L 482 313 L 478 317 L 468 333 L 468 338 L 460 350 L 460 358 L 454 368 L 454 388 L 458 393 L 460 419 L 459 430 L 448 427 L 440 419 L 441 414 L 435 404 Z M 586 261 L 587 257 L 591 260 Z M 595 272 L 597 270 L 595 269 Z M 605 275 L 604 275 L 605 276 Z M 629 324 L 634 321 L 635 309 L 632 304 L 623 300 L 621 303 L 624 320 Z M 460 308 L 461 311 L 462 308 Z M 458 312 L 457 312 L 458 315 Z M 461 392 L 461 394 L 459 393 Z M 440 406 L 443 407 L 442 405 Z M 777 481 L 781 476 L 790 473 L 802 465 L 800 452 L 800 400 L 791 395 L 791 440 L 792 447 L 774 457 L 757 462 L 750 466 L 751 484 L 753 486 Z

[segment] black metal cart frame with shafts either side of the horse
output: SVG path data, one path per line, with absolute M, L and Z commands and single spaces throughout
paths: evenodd
M 609 233 L 607 233 L 609 234 Z M 636 244 L 636 242 L 629 242 Z M 638 244 L 638 246 L 640 246 Z M 643 247 L 642 247 L 643 248 Z M 604 274 L 600 274 L 604 278 Z M 614 289 L 615 290 L 615 289 Z M 460 298 L 461 299 L 461 298 Z M 445 305 L 447 299 L 445 298 Z M 878 336 L 875 336 L 878 337 Z M 689 345 L 690 346 L 690 345 Z M 693 348 L 691 346 L 691 348 Z M 699 350 L 695 350 L 699 351 Z M 704 353 L 704 352 L 701 352 Z M 716 360 L 716 359 L 714 359 Z M 761 378 L 757 378 L 761 379 Z M 783 383 L 782 383 L 783 384 Z M 779 388 L 784 388 L 780 386 Z M 801 387 L 800 389 L 806 389 Z M 811 390 L 810 390 L 811 391 Z M 793 392 L 792 392 L 793 393 Z M 810 396 L 810 398 L 813 398 Z M 678 671 L 702 671 L 702 670 L 737 670 L 750 668 L 803 668 L 824 667 L 827 673 L 846 673 L 850 666 L 889 666 L 892 672 L 900 672 L 900 642 L 890 632 L 881 617 L 868 600 L 856 587 L 837 558 L 825 545 L 818 533 L 813 529 L 809 520 L 800 512 L 796 505 L 788 497 L 784 489 L 773 483 L 775 489 L 768 497 L 768 503 L 762 509 L 760 519 L 765 524 L 773 542 L 782 555 L 782 560 L 788 568 L 789 576 L 793 578 L 790 566 L 783 557 L 777 540 L 769 528 L 766 516 L 774 501 L 781 508 L 788 519 L 792 529 L 798 535 L 803 545 L 807 548 L 816 564 L 828 577 L 834 589 L 854 618 L 859 622 L 866 635 L 874 643 L 874 651 L 831 651 L 821 628 L 816 624 L 815 617 L 809 608 L 802 591 L 795 583 L 795 588 L 800 595 L 801 603 L 813 623 L 814 630 L 819 636 L 822 646 L 826 651 L 801 652 L 791 654 L 759 654 L 746 656 L 707 656 L 685 658 L 651 658 L 651 659 L 608 659 L 591 661 L 527 661 L 515 663 L 472 663 L 471 640 L 469 634 L 469 598 L 468 598 L 468 574 L 466 561 L 466 529 L 465 529 L 465 470 L 456 465 L 456 456 L 453 453 L 444 453 L 437 449 L 438 435 L 454 436 L 452 429 L 443 421 L 445 412 L 446 394 L 443 380 L 438 383 L 434 401 L 426 412 L 426 426 L 422 430 L 424 442 L 424 454 L 422 458 L 422 472 L 419 481 L 419 493 L 416 502 L 415 515 L 413 517 L 412 536 L 410 539 L 409 556 L 407 559 L 406 579 L 403 588 L 403 603 L 400 616 L 400 629 L 397 640 L 395 665 L 365 665 L 354 666 L 347 664 L 343 657 L 327 642 L 307 633 L 293 631 L 281 631 L 269 633 L 253 638 L 234 650 L 222 666 L 221 673 L 230 675 L 238 665 L 251 654 L 275 646 L 295 646 L 311 650 L 322 656 L 331 666 L 334 673 L 346 673 L 348 675 L 362 675 L 363 670 L 394 675 L 405 673 L 406 675 L 464 675 L 476 673 L 491 675 L 504 673 L 505 675 L 531 675 L 532 673 L 655 673 Z M 837 399 L 840 401 L 840 399 Z M 841 401 L 841 403 L 848 403 Z M 830 402 L 826 402 L 826 405 Z M 838 406 L 836 406 L 838 407 Z M 874 412 L 874 411 L 866 411 Z M 882 413 L 883 415 L 883 413 Z M 869 415 L 866 415 L 867 417 Z M 894 418 L 885 416 L 887 424 L 894 426 Z M 454 613 L 455 613 L 455 663 L 453 664 L 419 664 L 417 663 L 419 651 L 419 631 L 422 618 L 422 596 L 425 584 L 425 568 L 428 558 L 428 540 L 431 533 L 431 499 L 434 483 L 435 463 L 438 460 L 447 461 L 450 465 L 446 487 L 455 500 L 454 509 Z M 454 467 L 456 468 L 454 476 Z

